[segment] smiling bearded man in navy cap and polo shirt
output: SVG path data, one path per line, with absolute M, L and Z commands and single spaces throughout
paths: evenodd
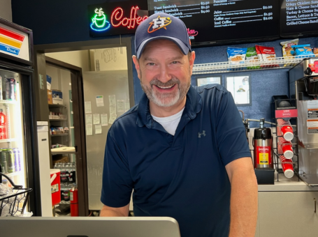
M 192 87 L 185 24 L 165 13 L 136 30 L 145 94 L 108 132 L 101 216 L 174 217 L 182 237 L 254 236 L 257 184 L 231 93 Z

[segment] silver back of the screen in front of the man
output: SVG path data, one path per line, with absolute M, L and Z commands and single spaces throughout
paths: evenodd
M 180 237 L 171 217 L 0 217 L 1 236 Z

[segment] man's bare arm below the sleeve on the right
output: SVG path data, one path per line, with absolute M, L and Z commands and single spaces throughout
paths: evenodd
M 233 160 L 225 167 L 231 182 L 229 237 L 254 237 L 257 222 L 257 181 L 251 158 Z

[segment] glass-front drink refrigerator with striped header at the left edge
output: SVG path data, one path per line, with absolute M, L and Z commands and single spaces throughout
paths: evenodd
M 32 44 L 31 30 L 0 18 L 0 165 L 15 185 L 32 189 L 24 211 L 41 215 Z

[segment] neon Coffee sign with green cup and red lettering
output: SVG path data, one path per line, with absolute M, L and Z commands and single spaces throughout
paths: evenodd
M 138 15 L 146 10 L 147 1 L 122 1 L 88 6 L 89 35 L 92 37 L 135 33 L 137 26 L 147 19 Z

